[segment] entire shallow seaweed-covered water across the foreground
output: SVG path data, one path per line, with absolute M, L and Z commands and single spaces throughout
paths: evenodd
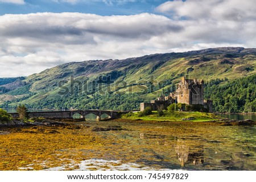
M 3 133 L 3 156 L 15 167 L 14 151 L 29 151 L 28 156 L 35 160 L 26 160 L 19 170 L 256 170 L 254 126 L 140 120 L 72 124 L 79 128 L 55 127 L 54 134 L 41 127 L 24 128 L 21 134 L 16 133 L 20 130 Z M 84 145 L 87 134 L 92 143 Z M 44 142 L 31 144 L 34 139 Z M 9 146 L 10 142 L 13 145 Z M 50 155 L 40 154 L 42 148 L 51 149 Z

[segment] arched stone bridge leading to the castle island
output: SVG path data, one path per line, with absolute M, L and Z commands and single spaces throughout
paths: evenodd
M 112 111 L 112 110 L 70 110 L 70 111 L 44 111 L 44 112 L 28 112 L 29 117 L 44 117 L 44 118 L 73 118 L 73 115 L 78 113 L 81 118 L 86 115 L 94 114 L 97 116 L 97 121 L 101 121 L 103 114 L 108 115 L 107 118 L 116 118 L 122 113 L 129 111 Z M 18 113 L 10 113 L 13 117 L 19 117 Z

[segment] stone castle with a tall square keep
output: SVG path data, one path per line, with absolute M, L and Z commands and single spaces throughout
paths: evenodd
M 151 107 L 153 111 L 167 109 L 172 103 L 185 103 L 188 105 L 204 105 L 212 112 L 212 101 L 204 100 L 204 81 L 200 79 L 186 79 L 183 77 L 176 85 L 176 91 L 168 96 L 161 96 L 150 103 L 141 103 L 141 111 L 146 107 Z

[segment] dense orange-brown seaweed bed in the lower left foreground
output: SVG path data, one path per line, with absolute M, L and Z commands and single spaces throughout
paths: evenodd
M 9 129 L 1 136 L 0 170 L 44 170 L 87 159 L 83 150 L 98 150 L 104 139 L 88 128 L 77 126 L 34 126 Z M 61 164 L 61 165 L 60 165 Z M 30 169 L 28 168 L 28 169 Z

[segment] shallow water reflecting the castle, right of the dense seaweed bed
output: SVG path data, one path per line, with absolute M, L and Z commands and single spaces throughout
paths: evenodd
M 96 125 L 123 128 L 98 132 L 115 141 L 105 146 L 108 153 L 98 151 L 104 160 L 122 160 L 155 170 L 256 170 L 256 128 L 252 126 L 144 121 Z

